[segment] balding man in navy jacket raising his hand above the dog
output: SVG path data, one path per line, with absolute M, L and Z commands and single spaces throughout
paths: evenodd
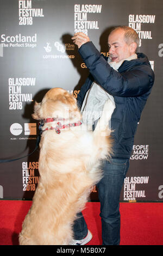
M 87 35 L 77 33 L 72 40 L 90 71 L 77 99 L 85 113 L 84 121 L 91 122 L 95 129 L 105 102 L 111 100 L 115 104 L 109 124 L 114 131 L 114 154 L 111 162 L 102 163 L 104 177 L 98 184 L 98 196 L 103 245 L 120 245 L 120 194 L 137 123 L 151 93 L 154 73 L 147 56 L 137 52 L 139 36 L 130 27 L 120 26 L 111 31 L 108 59 L 99 53 Z M 74 222 L 74 245 L 85 245 L 91 237 L 83 216 L 78 218 Z

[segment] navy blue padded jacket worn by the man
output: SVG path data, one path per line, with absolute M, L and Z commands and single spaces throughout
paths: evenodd
M 82 106 L 93 81 L 114 96 L 116 108 L 111 117 L 114 157 L 129 158 L 137 123 L 154 83 L 154 72 L 148 58 L 143 53 L 137 53 L 137 59 L 125 60 L 117 72 L 92 42 L 82 45 L 79 53 L 90 70 L 90 76 L 78 94 L 78 105 Z

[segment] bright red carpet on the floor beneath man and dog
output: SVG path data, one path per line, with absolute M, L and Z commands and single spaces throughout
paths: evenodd
M 0 200 L 0 245 L 18 245 L 18 233 L 31 201 Z M 101 245 L 99 203 L 83 211 L 91 233 L 88 245 Z M 162 203 L 121 203 L 121 245 L 163 245 Z

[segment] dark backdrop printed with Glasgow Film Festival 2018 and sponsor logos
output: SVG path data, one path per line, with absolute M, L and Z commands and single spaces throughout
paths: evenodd
M 39 180 L 34 101 L 53 87 L 77 97 L 89 74 L 71 40 L 84 32 L 108 56 L 114 26 L 134 28 L 155 72 L 138 125 L 121 202 L 162 201 L 162 0 L 0 0 L 0 198 L 33 198 Z M 2 162 L 25 156 L 17 161 Z M 66 167 L 65 167 L 66 168 Z M 66 193 L 66 191 L 65 191 Z M 90 200 L 98 201 L 97 187 Z

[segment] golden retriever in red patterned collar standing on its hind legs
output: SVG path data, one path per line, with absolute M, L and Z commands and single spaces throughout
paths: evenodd
M 114 108 L 105 103 L 95 131 L 88 131 L 76 99 L 66 90 L 53 88 L 41 103 L 35 102 L 32 116 L 43 120 L 40 177 L 20 245 L 71 245 L 76 215 L 102 178 L 101 160 L 111 154 L 108 122 Z

